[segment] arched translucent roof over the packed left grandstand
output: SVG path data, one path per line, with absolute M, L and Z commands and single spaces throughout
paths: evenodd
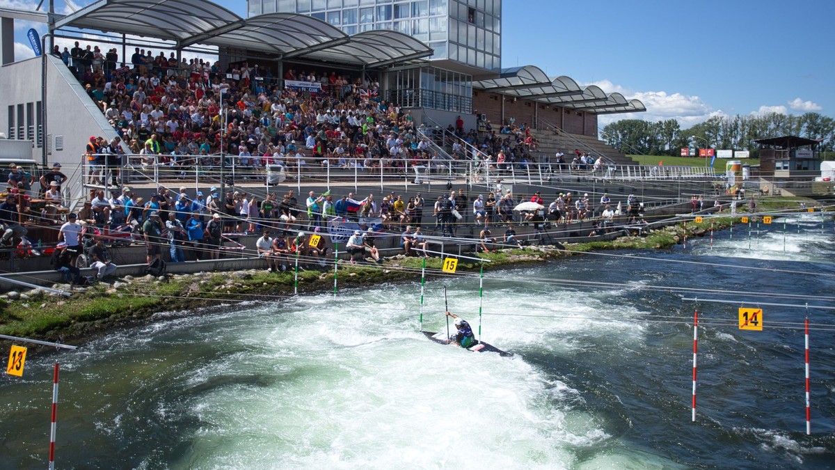
M 174 41 L 249 49 L 281 59 L 306 55 L 341 64 L 382 67 L 433 54 L 426 44 L 395 31 L 348 36 L 330 23 L 297 13 L 240 18 L 207 0 L 99 0 L 67 15 L 56 28 L 82 28 Z

